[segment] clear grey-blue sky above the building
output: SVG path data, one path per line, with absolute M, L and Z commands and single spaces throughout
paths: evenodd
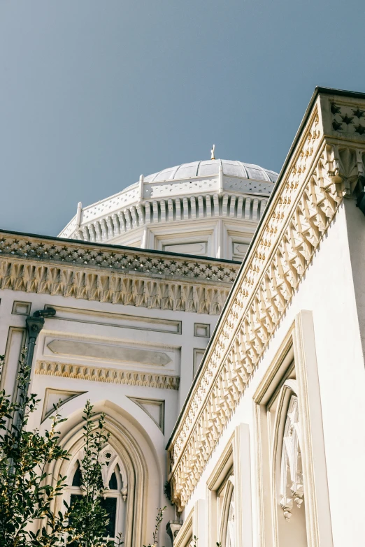
M 0 0 L 0 227 L 57 235 L 157 170 L 279 171 L 316 85 L 365 92 L 364 0 Z

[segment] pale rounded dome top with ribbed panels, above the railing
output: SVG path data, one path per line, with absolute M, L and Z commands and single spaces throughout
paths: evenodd
M 276 182 L 278 173 L 264 169 L 252 163 L 242 161 L 229 161 L 227 159 L 209 159 L 206 161 L 192 161 L 182 163 L 180 166 L 169 167 L 159 173 L 153 173 L 144 177 L 145 182 L 159 182 L 163 180 L 181 180 L 192 177 L 210 177 L 218 175 L 222 165 L 223 175 L 231 177 L 243 177 L 245 179 L 264 180 Z

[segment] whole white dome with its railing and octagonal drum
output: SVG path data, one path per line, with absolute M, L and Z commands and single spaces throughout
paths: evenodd
M 59 237 L 241 260 L 277 179 L 241 161 L 183 163 L 79 203 Z

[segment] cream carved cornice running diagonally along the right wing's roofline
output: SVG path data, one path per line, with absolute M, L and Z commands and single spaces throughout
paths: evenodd
M 308 114 L 169 442 L 178 511 L 199 482 L 343 197 L 360 184 L 365 138 L 336 139 L 330 100 L 317 96 Z

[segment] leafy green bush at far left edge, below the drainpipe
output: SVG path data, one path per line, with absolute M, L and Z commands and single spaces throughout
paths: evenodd
M 3 367 L 3 356 L 0 356 Z M 59 446 L 58 425 L 64 421 L 56 409 L 50 430 L 41 435 L 27 430 L 38 404 L 28 394 L 30 370 L 27 351 L 20 356 L 17 400 L 0 392 L 0 544 L 7 547 L 61 546 L 70 537 L 69 515 L 54 514 L 52 503 L 62 494 L 65 477 L 47 483 L 50 462 L 68 459 Z

